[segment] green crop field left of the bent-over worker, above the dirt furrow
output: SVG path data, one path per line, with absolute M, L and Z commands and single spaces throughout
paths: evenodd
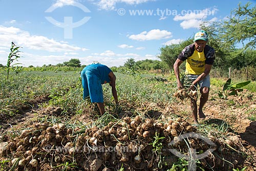
M 0 112 L 3 116 L 18 114 L 36 103 L 36 100 L 76 87 L 78 81 L 78 72 L 12 73 L 9 80 L 4 77 L 0 80 Z

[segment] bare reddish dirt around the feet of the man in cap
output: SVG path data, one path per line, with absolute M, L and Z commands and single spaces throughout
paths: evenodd
M 182 113 L 183 116 L 187 116 L 190 123 L 193 123 L 191 114 L 189 114 L 191 113 L 189 101 L 177 102 L 177 105 L 172 105 L 172 110 L 174 113 Z M 223 125 L 226 123 L 230 129 L 229 132 L 234 133 L 241 139 L 242 146 L 254 158 L 254 164 L 244 163 L 244 166 L 247 166 L 246 170 L 256 170 L 255 94 L 244 90 L 237 96 L 229 96 L 228 100 L 217 98 L 217 94 L 209 95 L 209 100 L 204 107 L 204 114 L 206 118 L 199 121 L 199 124 L 215 123 Z

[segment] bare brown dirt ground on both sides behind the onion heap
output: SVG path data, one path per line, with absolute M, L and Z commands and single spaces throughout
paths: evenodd
M 122 101 L 120 101 L 120 104 L 123 106 L 132 105 L 127 103 L 125 104 L 125 102 L 122 104 Z M 129 107 L 131 108 L 131 106 Z M 153 116 L 154 118 L 156 118 L 156 116 L 167 118 L 169 115 L 175 114 L 182 116 L 183 118 L 187 118 L 189 123 L 193 123 L 191 120 L 191 111 L 188 101 L 177 100 L 167 106 L 145 103 L 142 108 L 142 112 L 145 112 L 148 116 Z M 46 114 L 58 116 L 60 112 L 59 108 L 29 109 L 19 117 L 13 117 L 9 120 L 1 121 L 1 144 L 4 145 L 4 142 L 9 141 L 12 130 L 24 129 L 29 125 L 34 124 L 38 118 L 45 117 Z M 238 96 L 229 96 L 228 100 L 223 100 L 218 98 L 216 94 L 210 94 L 209 100 L 204 108 L 204 113 L 206 118 L 203 121 L 200 120 L 199 124 L 223 124 L 226 122 L 230 125 L 231 132 L 241 138 L 243 146 L 252 156 L 254 156 L 254 163 L 244 164 L 244 166 L 247 166 L 246 170 L 256 170 L 256 121 L 248 119 L 248 117 L 256 116 L 256 95 L 252 93 L 248 94 L 248 92 L 245 91 L 240 93 Z M 80 117 L 75 116 L 70 119 L 77 119 L 86 123 L 94 120 L 95 118 L 90 114 L 84 114 Z

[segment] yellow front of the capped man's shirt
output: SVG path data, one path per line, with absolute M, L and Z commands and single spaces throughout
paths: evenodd
M 204 51 L 194 51 L 193 55 L 186 60 L 186 71 L 185 74 L 200 75 L 204 72 L 205 66 L 205 55 Z

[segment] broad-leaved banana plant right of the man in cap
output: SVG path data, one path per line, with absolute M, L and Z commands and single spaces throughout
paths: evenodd
M 242 92 L 243 89 L 241 89 L 242 87 L 246 86 L 247 84 L 249 84 L 251 81 L 244 81 L 244 82 L 239 82 L 239 83 L 235 83 L 235 84 L 231 84 L 231 78 L 229 78 L 226 83 L 223 85 L 223 89 L 222 92 L 219 91 L 219 97 L 223 98 L 225 100 L 227 100 L 228 96 L 232 96 L 232 95 L 237 95 L 238 92 Z

